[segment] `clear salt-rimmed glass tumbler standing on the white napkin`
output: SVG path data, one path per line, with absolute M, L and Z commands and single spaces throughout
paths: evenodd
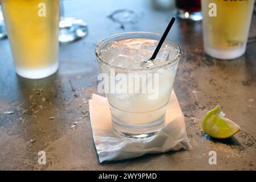
M 112 114 L 113 129 L 125 137 L 152 137 L 163 127 L 181 49 L 174 40 L 167 38 L 164 44 L 172 48 L 167 60 L 143 68 L 125 65 L 122 57 L 129 56 L 126 55 L 127 47 L 124 47 L 123 50 L 121 48 L 122 53 L 109 52 L 110 55 L 118 57 L 114 61 L 108 60 L 111 59 L 111 56 L 108 55 L 104 58 L 102 52 L 105 51 L 104 49 L 108 44 L 113 44 L 113 42 L 119 42 L 119 45 L 122 42 L 133 42 L 134 44 L 132 44 L 135 47 L 128 48 L 128 51 L 136 54 L 136 51 L 138 51 L 136 45 L 140 44 L 139 41 L 158 41 L 160 38 L 161 35 L 149 32 L 127 32 L 110 36 L 97 44 L 98 66 L 101 74 L 105 75 L 104 81 L 108 80 L 105 82 L 104 90 Z M 152 50 L 150 44 L 145 45 L 150 49 L 148 51 L 148 57 L 150 57 L 154 50 Z M 147 53 L 147 50 L 143 51 Z M 137 61 L 140 64 L 146 64 L 142 60 Z M 120 83 L 122 86 L 119 85 Z M 150 90 L 150 87 L 154 89 Z M 127 92 L 122 92 L 123 89 Z

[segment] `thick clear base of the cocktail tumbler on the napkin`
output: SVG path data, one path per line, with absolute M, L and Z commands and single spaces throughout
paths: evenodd
M 134 125 L 118 121 L 112 115 L 112 126 L 115 133 L 127 138 L 143 139 L 154 137 L 164 125 L 164 115 L 157 121 L 145 124 Z

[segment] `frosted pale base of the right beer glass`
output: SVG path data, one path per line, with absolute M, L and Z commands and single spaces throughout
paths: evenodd
M 236 59 L 245 53 L 246 44 L 243 44 L 240 48 L 223 50 L 216 49 L 209 46 L 204 46 L 204 51 L 209 55 L 217 59 Z

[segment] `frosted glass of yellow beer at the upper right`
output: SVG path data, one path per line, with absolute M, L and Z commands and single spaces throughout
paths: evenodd
M 245 53 L 254 0 L 201 0 L 205 52 L 218 59 Z

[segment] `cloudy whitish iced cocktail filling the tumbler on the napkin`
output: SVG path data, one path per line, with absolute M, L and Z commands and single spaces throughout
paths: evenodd
M 114 125 L 129 128 L 163 123 L 180 49 L 166 41 L 156 59 L 151 61 L 158 42 L 148 38 L 126 38 L 96 48 L 101 73 L 114 76 L 114 80 L 108 77 L 104 85 Z

